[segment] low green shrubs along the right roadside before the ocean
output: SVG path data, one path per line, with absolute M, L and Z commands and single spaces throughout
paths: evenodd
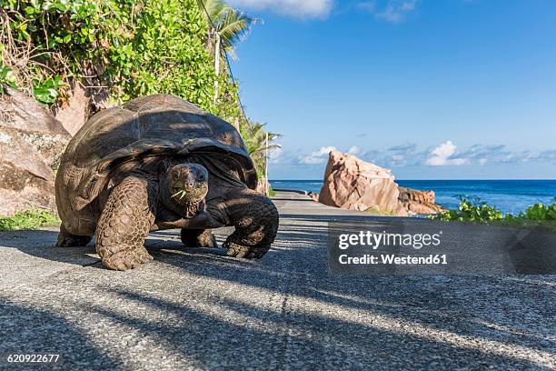
M 556 201 L 556 197 L 554 198 Z M 457 210 L 448 210 L 432 219 L 478 223 L 496 223 L 508 226 L 556 226 L 556 203 L 551 205 L 535 204 L 517 215 L 502 215 L 501 211 L 489 206 L 479 198 L 460 197 Z

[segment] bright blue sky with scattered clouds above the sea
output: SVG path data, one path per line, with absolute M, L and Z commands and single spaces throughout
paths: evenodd
M 556 178 L 556 1 L 232 0 L 247 115 L 282 134 L 271 179 L 331 147 L 401 179 Z

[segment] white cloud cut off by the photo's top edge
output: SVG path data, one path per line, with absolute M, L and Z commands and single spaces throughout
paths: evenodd
M 330 14 L 333 0 L 230 0 L 242 9 L 264 10 L 297 18 L 325 18 Z

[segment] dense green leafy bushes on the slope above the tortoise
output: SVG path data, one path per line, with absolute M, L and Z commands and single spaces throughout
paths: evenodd
M 44 104 L 64 100 L 76 78 L 107 86 L 117 103 L 166 93 L 215 115 L 239 115 L 237 86 L 214 73 L 195 0 L 0 0 L 0 22 L 3 65 Z

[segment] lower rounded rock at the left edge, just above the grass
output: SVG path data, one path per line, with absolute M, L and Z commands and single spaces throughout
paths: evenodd
M 55 209 L 53 170 L 15 129 L 0 128 L 0 215 Z

